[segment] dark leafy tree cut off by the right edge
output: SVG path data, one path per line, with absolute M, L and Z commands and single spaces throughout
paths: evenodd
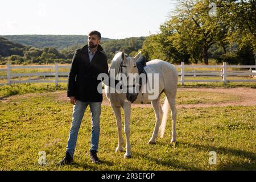
M 245 64 L 254 64 L 256 49 L 256 2 L 224 1 L 228 4 L 225 16 L 229 17 L 229 42 L 237 44 L 237 55 Z

